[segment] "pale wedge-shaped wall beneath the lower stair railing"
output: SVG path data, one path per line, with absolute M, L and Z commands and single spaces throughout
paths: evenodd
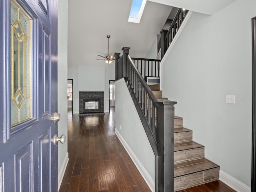
M 116 132 L 120 135 L 132 154 L 136 156 L 143 168 L 137 167 L 148 186 L 154 190 L 155 183 L 155 156 L 142 126 L 138 112 L 134 106 L 124 79 L 118 80 L 116 85 Z M 120 125 L 122 129 L 120 129 Z M 121 142 L 124 144 L 124 141 Z M 127 148 L 127 146 L 125 146 Z M 128 152 L 129 153 L 129 152 Z M 130 153 L 131 156 L 131 153 Z M 133 156 L 132 156 L 133 158 Z M 136 159 L 134 158 L 134 159 Z

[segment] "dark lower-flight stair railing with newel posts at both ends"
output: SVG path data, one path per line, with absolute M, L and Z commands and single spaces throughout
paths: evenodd
M 138 66 L 124 47 L 123 55 L 115 53 L 116 80 L 124 78 L 156 156 L 156 192 L 174 190 L 174 104 L 157 101 Z M 140 59 L 134 59 L 140 60 Z

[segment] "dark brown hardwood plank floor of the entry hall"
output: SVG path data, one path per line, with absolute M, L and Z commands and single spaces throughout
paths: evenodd
M 114 129 L 114 108 L 94 116 L 68 111 L 69 162 L 59 192 L 150 192 Z M 178 192 L 235 191 L 215 181 Z

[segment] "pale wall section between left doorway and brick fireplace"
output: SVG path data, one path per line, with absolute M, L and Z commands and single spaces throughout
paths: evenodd
M 68 79 L 73 79 L 73 113 L 79 113 L 78 68 L 68 68 Z

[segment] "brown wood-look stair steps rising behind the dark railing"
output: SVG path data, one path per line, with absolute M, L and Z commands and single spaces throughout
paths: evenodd
M 159 84 L 149 87 L 158 100 L 167 100 Z M 174 191 L 218 180 L 219 171 L 220 166 L 204 158 L 204 146 L 192 140 L 192 130 L 174 116 Z

